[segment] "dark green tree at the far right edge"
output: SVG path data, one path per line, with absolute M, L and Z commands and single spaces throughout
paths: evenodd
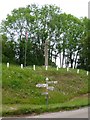
M 78 67 L 90 71 L 90 19 L 82 19 L 84 34 L 81 41 L 81 49 L 79 52 L 79 65 Z

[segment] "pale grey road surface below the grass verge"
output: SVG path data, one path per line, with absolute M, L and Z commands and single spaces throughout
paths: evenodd
M 44 113 L 37 116 L 28 116 L 26 118 L 88 118 L 88 108 L 82 108 L 72 111 Z

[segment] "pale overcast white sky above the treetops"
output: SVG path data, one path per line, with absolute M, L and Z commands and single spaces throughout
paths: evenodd
M 0 22 L 14 8 L 25 7 L 29 4 L 55 4 L 62 9 L 62 12 L 70 13 L 76 17 L 88 17 L 88 2 L 90 0 L 1 0 Z

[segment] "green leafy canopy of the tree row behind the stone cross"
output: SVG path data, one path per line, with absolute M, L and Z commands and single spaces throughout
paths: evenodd
M 44 64 L 44 43 L 46 39 L 49 39 L 49 61 L 52 61 L 52 58 L 58 54 L 62 54 L 61 61 L 67 63 L 69 59 L 69 64 L 73 64 L 74 61 L 78 61 L 76 52 L 80 55 L 84 49 L 82 48 L 83 43 L 87 44 L 85 41 L 88 26 L 87 18 L 79 19 L 71 14 L 62 13 L 61 9 L 55 5 L 39 7 L 32 4 L 25 8 L 14 9 L 11 15 L 7 15 L 6 20 L 2 22 L 1 29 L 2 34 L 7 36 L 6 41 L 16 42 L 14 59 L 17 59 L 19 64 L 21 64 L 20 61 L 24 63 L 25 42 L 23 44 L 21 42 L 26 40 L 26 31 L 28 41 L 32 43 L 27 43 L 27 65 L 31 63 Z M 21 60 L 21 56 L 23 56 L 23 60 Z M 73 62 L 71 62 L 72 58 Z M 34 63 L 32 62 L 33 59 Z M 62 62 L 62 66 L 64 64 Z

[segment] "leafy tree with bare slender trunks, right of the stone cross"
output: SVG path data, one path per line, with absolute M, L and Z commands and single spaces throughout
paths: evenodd
M 57 25 L 57 50 L 60 55 L 60 66 L 71 65 L 77 61 L 79 43 L 83 36 L 81 20 L 70 14 L 60 14 L 55 19 Z M 62 59 L 61 59 L 62 56 Z M 62 63 L 62 64 L 61 64 Z M 76 67 L 76 64 L 74 65 Z

